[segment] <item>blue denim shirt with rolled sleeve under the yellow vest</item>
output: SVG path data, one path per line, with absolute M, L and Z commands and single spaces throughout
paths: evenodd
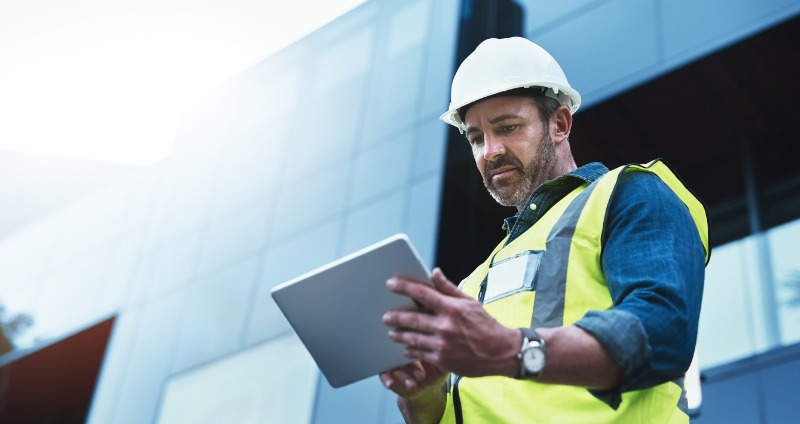
M 606 172 L 590 163 L 537 188 L 525 208 L 505 220 L 509 241 L 574 188 Z M 656 175 L 620 177 L 606 217 L 601 266 L 614 306 L 590 311 L 575 325 L 623 367 L 618 389 L 592 391 L 617 408 L 626 391 L 680 379 L 697 339 L 705 250 L 688 209 Z

